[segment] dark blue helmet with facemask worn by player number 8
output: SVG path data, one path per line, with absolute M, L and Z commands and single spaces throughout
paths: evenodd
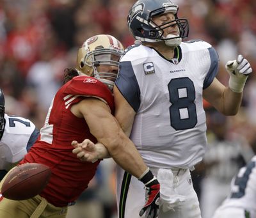
M 178 10 L 179 6 L 173 4 L 170 0 L 139 0 L 131 7 L 127 17 L 127 24 L 134 38 L 141 42 L 172 42 L 175 39 L 181 42 L 182 38 L 188 37 L 189 24 L 187 19 L 178 18 Z M 157 26 L 152 21 L 152 17 L 168 12 L 175 15 L 175 20 L 161 26 Z M 164 38 L 163 30 L 173 25 L 179 27 L 179 35 L 171 35 Z

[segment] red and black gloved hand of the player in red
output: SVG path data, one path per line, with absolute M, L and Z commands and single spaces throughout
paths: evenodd
M 146 218 L 157 218 L 159 214 L 160 184 L 155 178 L 145 186 L 145 189 L 147 191 L 146 203 L 140 210 L 140 216 L 146 212 Z

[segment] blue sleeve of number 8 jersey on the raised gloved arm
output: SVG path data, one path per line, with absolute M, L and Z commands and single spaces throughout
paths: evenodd
M 209 72 L 204 79 L 204 89 L 211 85 L 219 71 L 219 56 L 213 47 L 208 49 L 211 59 Z

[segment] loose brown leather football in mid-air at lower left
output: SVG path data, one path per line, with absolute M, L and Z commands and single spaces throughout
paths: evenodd
M 4 198 L 25 200 L 43 191 L 51 177 L 51 169 L 44 164 L 27 163 L 14 168 L 1 188 Z

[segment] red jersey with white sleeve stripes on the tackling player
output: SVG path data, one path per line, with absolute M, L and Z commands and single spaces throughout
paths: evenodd
M 81 162 L 72 153 L 73 140 L 82 142 L 87 138 L 97 142 L 84 118 L 77 118 L 70 111 L 72 104 L 86 97 L 100 98 L 113 114 L 114 99 L 108 86 L 93 77 L 74 77 L 56 93 L 38 140 L 20 161 L 20 164 L 36 162 L 51 167 L 51 179 L 40 195 L 54 206 L 74 202 L 88 187 L 100 162 Z

